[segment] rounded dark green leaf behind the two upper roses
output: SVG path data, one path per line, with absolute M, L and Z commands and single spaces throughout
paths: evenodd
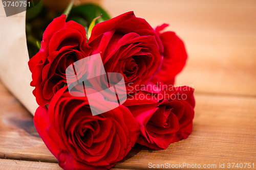
M 109 14 L 100 6 L 94 4 L 84 4 L 73 8 L 70 12 L 70 18 L 74 16 L 79 16 L 86 19 L 88 23 L 91 23 L 94 18 L 98 17 L 101 14 L 101 19 L 98 19 L 98 22 L 110 19 Z M 69 20 L 71 20 L 70 18 Z M 98 23 L 97 21 L 96 23 Z

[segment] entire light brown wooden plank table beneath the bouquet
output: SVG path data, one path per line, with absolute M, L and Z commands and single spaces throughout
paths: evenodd
M 191 135 L 155 151 L 135 145 L 113 169 L 148 169 L 149 163 L 224 163 L 256 168 L 256 2 L 108 0 L 112 16 L 133 10 L 152 26 L 170 23 L 185 41 L 189 59 L 177 85 L 193 85 Z M 3 43 L 3 42 L 1 42 Z M 32 115 L 0 83 L 0 168 L 61 169 L 36 132 Z M 216 165 L 216 168 L 215 166 Z M 177 166 L 177 165 L 176 165 Z M 248 167 L 248 164 L 247 164 Z M 182 169 L 181 167 L 179 167 Z M 184 169 L 187 166 L 184 166 Z

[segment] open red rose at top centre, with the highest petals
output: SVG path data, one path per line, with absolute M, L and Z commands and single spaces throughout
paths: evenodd
M 98 23 L 88 43 L 92 54 L 101 54 L 106 72 L 123 75 L 127 92 L 150 82 L 161 65 L 163 45 L 157 32 L 133 12 Z

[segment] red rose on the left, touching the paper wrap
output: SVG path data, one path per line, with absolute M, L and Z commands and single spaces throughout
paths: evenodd
M 44 32 L 40 51 L 28 63 L 38 105 L 48 104 L 67 79 L 76 81 L 76 75 L 66 75 L 66 68 L 90 53 L 84 27 L 74 21 L 66 22 L 66 15 L 55 18 Z M 78 78 L 86 72 L 87 63 L 79 64 L 75 66 L 79 68 L 76 72 Z

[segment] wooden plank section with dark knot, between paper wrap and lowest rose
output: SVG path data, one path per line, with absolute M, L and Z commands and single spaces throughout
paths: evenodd
M 33 124 L 32 115 L 0 83 L 0 158 L 57 162 Z

